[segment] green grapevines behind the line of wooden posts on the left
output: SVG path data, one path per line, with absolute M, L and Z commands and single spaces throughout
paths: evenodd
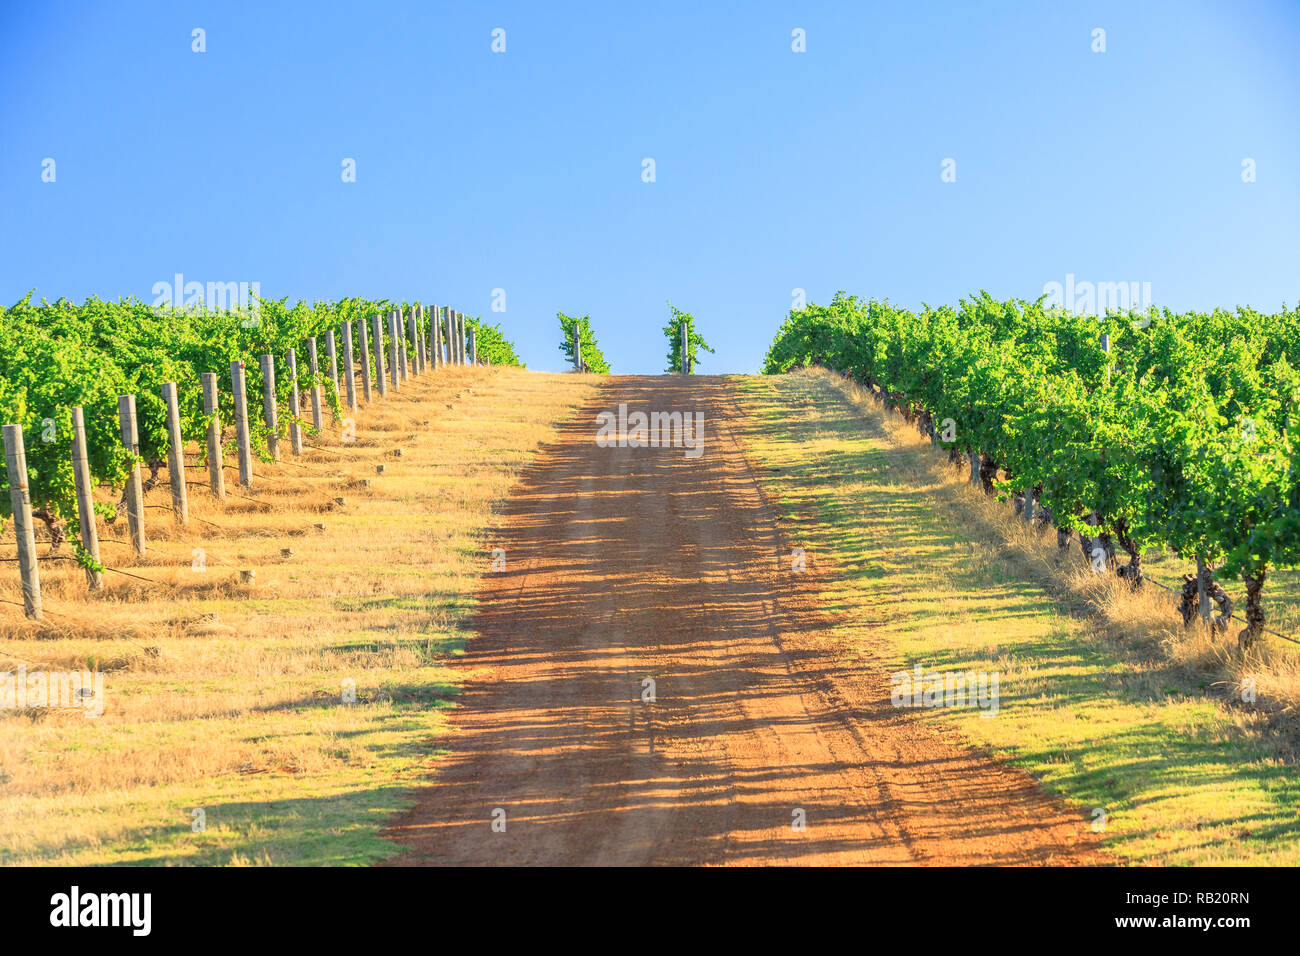
M 35 304 L 29 294 L 12 307 L 0 306 L 0 421 L 22 427 L 27 440 L 26 464 L 32 515 L 42 520 L 57 545 L 66 528 L 77 519 L 77 496 L 69 440 L 73 433 L 73 410 L 82 408 L 86 445 L 92 481 L 96 485 L 122 488 L 136 462 L 150 468 L 151 480 L 164 467 L 169 451 L 165 425 L 166 410 L 162 385 L 177 384 L 181 438 L 203 446 L 209 416 L 204 414 L 200 377 L 217 373 L 229 382 L 233 362 L 246 367 L 246 401 L 248 408 L 263 403 L 263 375 L 257 356 L 273 356 L 277 405 L 289 405 L 292 385 L 287 352 L 299 350 L 298 389 L 324 385 L 324 368 L 312 375 L 302 355 L 304 343 L 338 330 L 346 323 L 360 333 L 378 329 L 380 351 L 389 354 L 394 341 L 408 360 L 415 360 L 415 345 L 407 326 L 389 334 L 385 323 L 374 325 L 373 316 L 399 311 L 426 316 L 422 334 L 433 343 L 434 316 L 445 315 L 437 306 L 390 302 L 387 299 L 348 298 L 338 302 L 298 303 L 285 299 L 259 300 L 252 310 L 208 311 L 203 307 L 160 310 L 125 299 L 105 302 L 98 298 L 83 304 L 60 299 Z M 464 316 L 465 328 L 473 329 L 478 360 L 489 364 L 519 365 L 514 346 L 500 329 L 480 319 Z M 443 323 L 438 334 L 446 337 Z M 360 345 L 358 342 L 358 345 Z M 358 347 L 355 360 L 377 376 L 370 349 Z M 342 352 L 342 345 L 339 345 Z M 344 373 L 348 373 L 344 369 Z M 338 394 L 322 389 L 335 419 L 341 419 Z M 229 388 L 220 390 L 218 420 L 234 419 L 235 398 Z M 121 441 L 118 397 L 135 395 L 139 431 L 138 458 Z M 248 416 L 251 445 L 263 460 L 269 453 L 269 431 L 257 415 Z M 309 428 L 308 423 L 290 416 L 278 419 L 280 437 L 292 427 Z M 0 518 L 12 516 L 9 477 L 0 470 Z M 96 505 L 109 520 L 116 518 L 110 505 Z

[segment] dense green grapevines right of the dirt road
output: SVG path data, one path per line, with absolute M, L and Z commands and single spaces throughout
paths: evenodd
M 763 371 L 822 365 L 879 390 L 985 492 L 1017 497 L 1062 548 L 1071 532 L 1101 548 L 1135 588 L 1150 548 L 1197 561 L 1184 596 L 1240 576 L 1248 648 L 1269 571 L 1300 563 L 1300 308 L 1097 317 L 1043 302 L 980 293 L 914 312 L 838 293 L 786 316 Z

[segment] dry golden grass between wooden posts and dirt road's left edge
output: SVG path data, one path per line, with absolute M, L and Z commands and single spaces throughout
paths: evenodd
M 103 532 L 105 563 L 150 583 L 108 574 L 91 596 L 77 568 L 43 564 L 48 619 L 0 605 L 0 671 L 98 669 L 105 708 L 0 710 L 0 862 L 391 856 L 378 832 L 446 726 L 446 662 L 490 561 L 494 506 L 592 388 L 439 369 L 364 406 L 355 442 L 328 425 L 304 458 L 257 463 L 254 501 L 191 488 L 183 531 L 164 480 L 144 561 L 125 520 Z M 231 472 L 228 489 L 243 494 Z M 17 593 L 12 568 L 3 597 Z

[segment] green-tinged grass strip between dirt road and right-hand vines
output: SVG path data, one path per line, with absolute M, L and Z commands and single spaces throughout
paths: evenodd
M 1280 706 L 1234 706 L 1214 648 L 1167 623 L 1167 598 L 1057 566 L 1054 535 L 1031 538 L 837 376 L 733 381 L 783 531 L 832 566 L 822 600 L 841 623 L 828 637 L 890 670 L 998 674 L 996 717 L 922 719 L 1035 774 L 1082 808 L 1080 826 L 1104 813 L 1122 860 L 1300 864 L 1294 658 L 1254 675 Z

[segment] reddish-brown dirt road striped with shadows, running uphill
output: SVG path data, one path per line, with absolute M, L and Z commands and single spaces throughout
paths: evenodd
M 731 394 L 611 378 L 525 475 L 450 754 L 387 831 L 407 848 L 393 862 L 1109 862 L 1078 808 L 941 739 L 890 705 L 883 662 L 819 640 Z M 702 411 L 703 454 L 598 447 L 595 415 L 620 402 Z

